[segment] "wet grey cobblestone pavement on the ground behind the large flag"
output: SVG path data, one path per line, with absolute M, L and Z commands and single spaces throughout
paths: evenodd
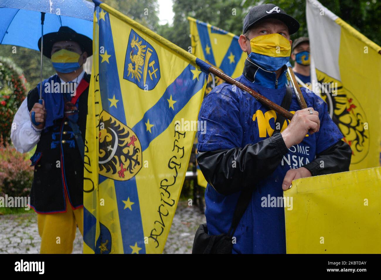
M 205 215 L 197 206 L 188 206 L 187 201 L 180 201 L 163 253 L 190 254 L 197 227 L 204 222 Z M 0 254 L 39 253 L 41 238 L 37 214 L 2 215 L 0 227 Z M 81 254 L 82 248 L 82 235 L 77 229 L 73 254 Z

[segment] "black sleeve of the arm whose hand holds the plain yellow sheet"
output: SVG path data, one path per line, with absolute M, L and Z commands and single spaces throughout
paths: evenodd
M 303 167 L 307 168 L 312 176 L 349 171 L 351 157 L 351 147 L 343 140 L 340 140 L 317 154 L 315 160 Z

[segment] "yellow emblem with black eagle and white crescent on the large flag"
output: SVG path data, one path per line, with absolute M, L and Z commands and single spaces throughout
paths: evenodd
M 110 115 L 99 115 L 99 175 L 117 181 L 133 178 L 142 167 L 142 149 L 136 134 Z

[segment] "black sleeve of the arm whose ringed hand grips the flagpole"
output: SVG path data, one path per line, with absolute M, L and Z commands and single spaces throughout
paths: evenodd
M 230 195 L 275 171 L 288 149 L 280 133 L 245 147 L 198 152 L 205 179 L 223 195 Z

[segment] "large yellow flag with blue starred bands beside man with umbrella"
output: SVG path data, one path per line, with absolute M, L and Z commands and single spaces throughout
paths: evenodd
M 205 62 L 94 0 L 84 253 L 162 253 L 185 178 Z

